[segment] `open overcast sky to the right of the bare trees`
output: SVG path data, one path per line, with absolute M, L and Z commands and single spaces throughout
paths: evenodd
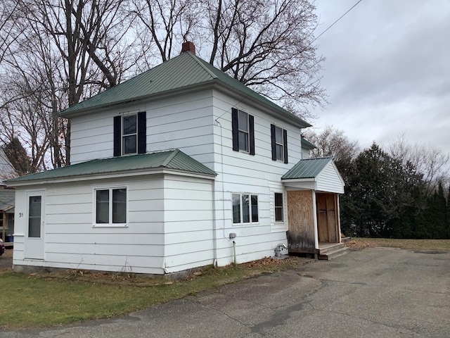
M 317 0 L 316 36 L 357 0 Z M 450 1 L 363 0 L 316 40 L 333 125 L 366 148 L 405 133 L 450 152 Z

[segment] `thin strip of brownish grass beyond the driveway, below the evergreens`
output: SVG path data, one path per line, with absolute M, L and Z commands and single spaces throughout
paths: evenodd
M 410 250 L 450 250 L 450 239 L 389 239 L 352 237 L 352 242 L 369 246 L 400 248 Z

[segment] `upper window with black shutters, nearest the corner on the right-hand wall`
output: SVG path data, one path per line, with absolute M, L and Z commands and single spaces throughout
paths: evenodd
M 233 127 L 233 150 L 255 155 L 255 118 L 253 115 L 232 108 L 231 124 Z

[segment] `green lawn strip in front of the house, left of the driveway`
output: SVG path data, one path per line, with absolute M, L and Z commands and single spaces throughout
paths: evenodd
M 288 264 L 277 266 L 275 269 L 239 266 L 210 268 L 200 277 L 157 286 L 133 284 L 135 281 L 99 284 L 95 280 L 80 281 L 77 277 L 68 280 L 54 276 L 4 272 L 0 273 L 0 288 L 3 290 L 0 327 L 23 329 L 110 318 L 195 295 L 267 271 L 292 267 L 293 265 Z M 138 281 L 145 278 L 138 277 Z

